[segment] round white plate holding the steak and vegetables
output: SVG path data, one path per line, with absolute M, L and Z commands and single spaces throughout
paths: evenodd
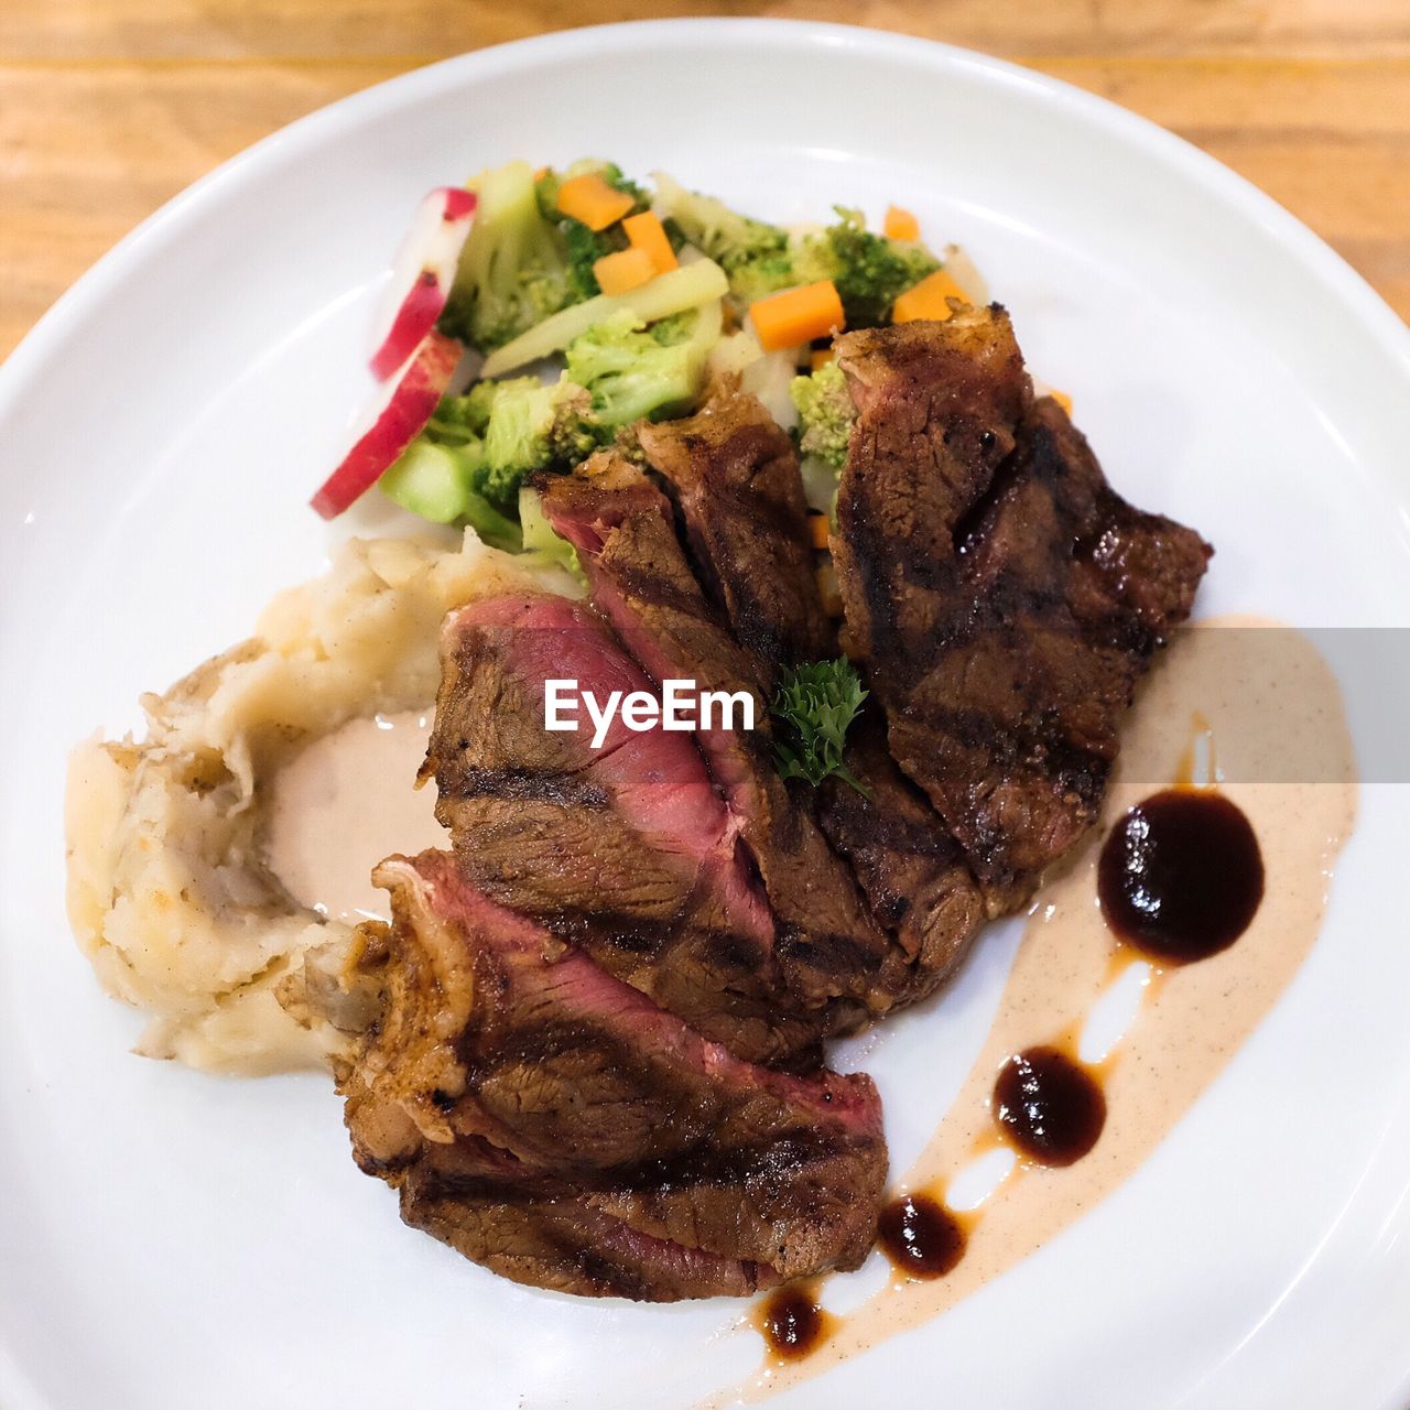
M 62 911 L 66 747 L 134 723 L 138 691 L 241 636 L 326 551 L 305 499 L 367 388 L 416 199 L 582 152 L 781 219 L 915 209 L 973 252 L 1112 481 L 1217 541 L 1206 613 L 1404 625 L 1406 330 L 1272 202 L 1062 85 L 856 30 L 687 21 L 455 59 L 262 142 L 0 372 L 6 1410 L 671 1410 L 754 1363 L 752 1334 L 719 1335 L 732 1306 L 550 1297 L 403 1230 L 326 1080 L 130 1056 L 135 1019 Z M 1311 960 L 1129 1184 L 788 1403 L 1403 1406 L 1407 835 L 1404 787 L 1368 787 Z M 870 1059 L 898 1166 L 1011 949 L 991 940 Z

